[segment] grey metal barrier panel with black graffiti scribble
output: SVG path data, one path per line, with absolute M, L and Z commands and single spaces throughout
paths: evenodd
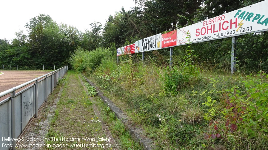
M 30 89 L 28 89 L 27 91 L 24 91 L 21 94 L 22 130 L 24 129 L 24 127 L 26 127 L 30 119 L 35 115 L 34 93 L 35 93 L 35 88 L 32 85 Z

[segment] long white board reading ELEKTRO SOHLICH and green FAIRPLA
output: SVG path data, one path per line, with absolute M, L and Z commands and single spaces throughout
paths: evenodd
M 177 30 L 177 45 L 267 31 L 268 0 Z

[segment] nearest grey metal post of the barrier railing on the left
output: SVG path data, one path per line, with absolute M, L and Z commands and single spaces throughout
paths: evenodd
M 11 138 L 17 138 L 16 137 L 16 133 L 15 133 L 15 129 L 16 129 L 16 125 L 15 125 L 15 102 L 14 102 L 14 98 L 15 98 L 15 91 L 16 88 L 12 88 L 14 91 L 10 94 L 10 99 L 11 99 Z M 15 140 L 11 140 L 11 144 L 12 144 L 12 150 L 16 149 L 15 144 L 16 141 Z

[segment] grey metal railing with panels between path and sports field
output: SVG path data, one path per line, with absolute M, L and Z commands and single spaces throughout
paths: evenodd
M 0 97 L 10 94 L 0 102 L 0 137 L 3 144 L 0 150 L 16 149 L 14 139 L 20 137 L 33 117 L 38 117 L 38 110 L 47 102 L 47 97 L 67 70 L 68 67 L 64 66 L 0 93 Z M 31 85 L 16 93 L 16 90 L 28 84 Z

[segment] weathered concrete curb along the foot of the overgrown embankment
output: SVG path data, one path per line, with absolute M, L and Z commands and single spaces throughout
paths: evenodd
M 96 88 L 96 91 L 98 92 L 97 95 L 101 97 L 101 100 L 110 107 L 110 110 L 112 110 L 115 113 L 115 116 L 124 123 L 125 127 L 130 132 L 132 138 L 136 142 L 140 143 L 144 147 L 144 150 L 156 149 L 153 140 L 145 136 L 144 130 L 142 128 L 135 127 L 132 124 L 130 124 L 127 115 L 125 115 L 124 112 L 121 109 L 119 109 L 109 98 L 103 96 L 103 92 L 101 92 L 93 82 L 88 80 L 84 75 L 83 77 L 87 80 L 87 82 L 91 86 L 94 86 Z

